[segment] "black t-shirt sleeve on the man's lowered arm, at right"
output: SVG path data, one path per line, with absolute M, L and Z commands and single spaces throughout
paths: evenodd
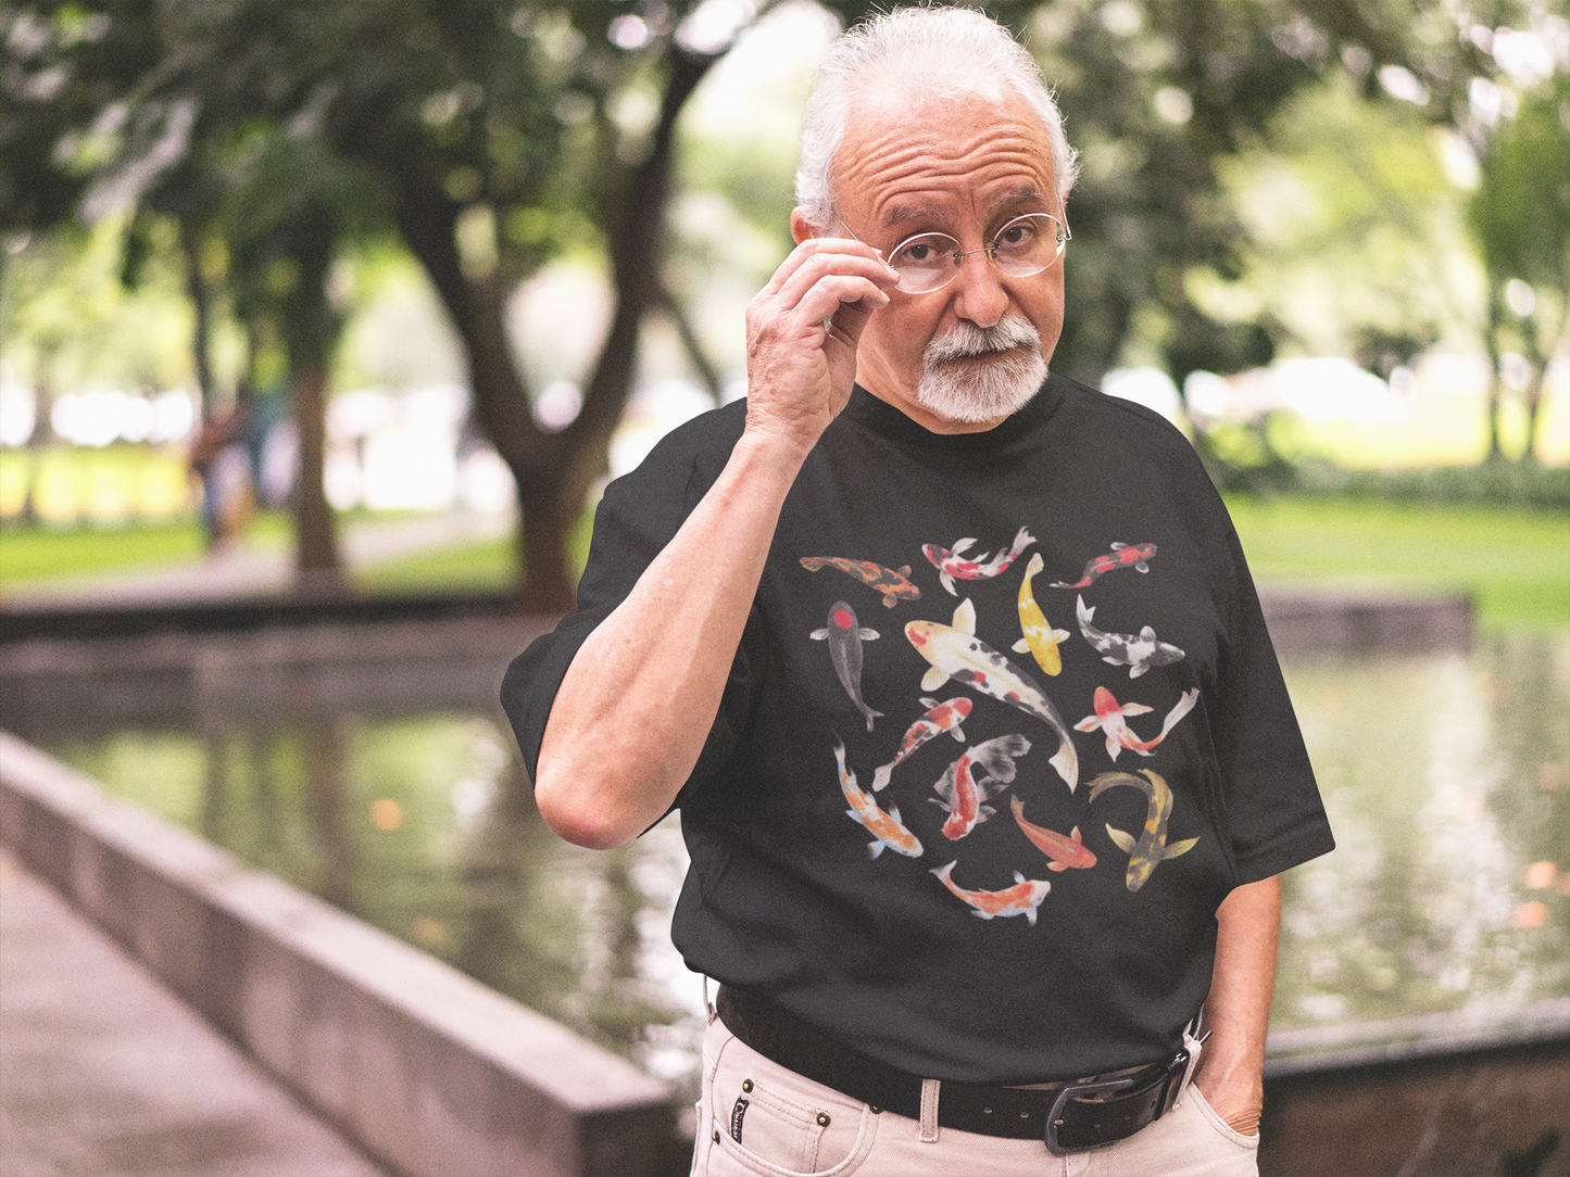
M 1228 527 L 1231 618 L 1220 651 L 1215 749 L 1234 882 L 1267 879 L 1334 849 L 1303 734 L 1237 532 Z

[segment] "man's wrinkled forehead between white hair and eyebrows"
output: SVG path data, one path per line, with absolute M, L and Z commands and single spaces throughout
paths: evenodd
M 851 113 L 835 154 L 835 202 L 896 231 L 923 217 L 1057 207 L 1041 115 L 1006 88 L 929 94 L 881 86 Z

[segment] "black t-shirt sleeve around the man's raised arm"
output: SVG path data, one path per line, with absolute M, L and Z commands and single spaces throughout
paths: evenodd
M 716 414 L 717 416 L 717 414 Z M 713 432 L 713 430 L 710 430 Z M 688 444 L 683 444 L 683 443 Z M 534 640 L 507 667 L 501 703 L 534 780 L 540 741 L 556 692 L 578 650 L 609 614 L 626 599 L 637 578 L 672 540 L 686 516 L 702 501 L 728 455 L 705 452 L 686 438 L 667 438 L 631 474 L 606 486 L 595 508 L 589 562 L 578 582 L 578 609 L 556 629 Z M 749 623 L 749 634 L 754 626 Z M 744 714 L 754 681 L 747 637 L 736 653 L 719 717 L 710 733 L 694 780 L 722 761 L 735 744 L 736 717 Z

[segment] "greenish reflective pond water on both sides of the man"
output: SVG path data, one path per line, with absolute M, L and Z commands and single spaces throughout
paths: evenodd
M 1570 998 L 1570 629 L 1284 669 L 1338 851 L 1287 874 L 1273 1031 L 1422 1014 L 1504 1023 Z M 675 818 L 608 854 L 559 841 L 499 712 L 38 742 L 111 794 L 691 1081 L 702 990 L 669 943 L 686 868 Z

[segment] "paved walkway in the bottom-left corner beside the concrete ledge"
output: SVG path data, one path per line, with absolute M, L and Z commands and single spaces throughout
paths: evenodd
M 0 1177 L 386 1177 L 0 851 Z

